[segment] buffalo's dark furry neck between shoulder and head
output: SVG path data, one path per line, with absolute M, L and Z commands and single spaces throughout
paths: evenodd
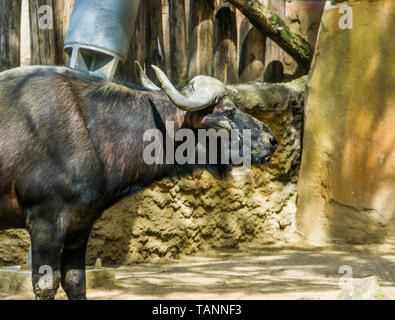
M 105 195 L 127 195 L 177 171 L 176 165 L 149 165 L 143 158 L 147 130 L 158 129 L 165 137 L 166 122 L 172 121 L 175 130 L 185 126 L 185 112 L 163 92 L 106 83 L 86 98 L 84 117 L 105 177 Z

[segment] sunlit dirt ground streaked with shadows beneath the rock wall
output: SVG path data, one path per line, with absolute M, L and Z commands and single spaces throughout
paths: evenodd
M 395 299 L 393 245 L 262 246 L 218 250 L 171 263 L 136 264 L 116 269 L 112 289 L 89 289 L 88 299 L 337 299 L 339 268 L 352 267 L 354 284 L 376 276 L 390 299 Z M 32 299 L 32 293 L 0 299 Z M 64 299 L 63 292 L 58 299 Z

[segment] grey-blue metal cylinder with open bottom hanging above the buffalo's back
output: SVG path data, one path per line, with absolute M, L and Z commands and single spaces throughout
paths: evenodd
M 140 0 L 75 0 L 64 49 L 68 66 L 109 78 L 128 56 Z

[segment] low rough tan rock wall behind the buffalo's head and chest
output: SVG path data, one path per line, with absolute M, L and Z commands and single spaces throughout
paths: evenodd
M 254 105 L 241 108 L 264 121 L 279 147 L 271 164 L 253 167 L 229 179 L 197 172 L 181 180 L 163 180 L 107 210 L 95 224 L 87 260 L 93 264 L 159 261 L 210 248 L 237 248 L 251 241 L 293 236 L 296 183 L 300 162 L 304 84 L 262 90 Z M 279 87 L 277 87 L 279 86 Z M 245 87 L 247 89 L 245 89 Z M 255 96 L 264 84 L 239 88 Z M 265 87 L 266 88 L 266 87 Z M 26 259 L 26 231 L 0 232 L 0 264 Z

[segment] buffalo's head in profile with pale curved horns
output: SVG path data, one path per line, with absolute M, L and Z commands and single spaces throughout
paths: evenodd
M 263 122 L 236 108 L 228 95 L 232 89 L 227 88 L 218 79 L 196 76 L 179 92 L 162 70 L 156 66 L 152 67 L 170 100 L 177 108 L 186 112 L 189 127 L 228 131 L 232 137 L 231 141 L 236 139 L 239 143 L 240 156 L 246 156 L 243 154 L 246 150 L 250 152 L 252 164 L 270 160 L 277 148 L 275 136 Z M 158 90 L 141 69 L 140 75 L 145 86 Z

